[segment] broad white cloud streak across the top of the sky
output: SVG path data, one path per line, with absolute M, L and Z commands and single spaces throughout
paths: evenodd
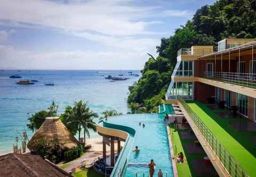
M 26 5 L 25 5 L 26 4 Z M 43 0 L 2 0 L 0 19 L 72 31 L 108 35 L 146 34 L 154 22 L 137 20 L 154 7 L 122 6 L 118 1 L 60 3 Z

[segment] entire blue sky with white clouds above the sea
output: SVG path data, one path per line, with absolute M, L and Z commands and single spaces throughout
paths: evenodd
M 1 0 L 1 69 L 142 69 L 215 0 Z

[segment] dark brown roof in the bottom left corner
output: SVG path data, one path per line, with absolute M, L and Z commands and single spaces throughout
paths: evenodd
M 6 154 L 0 156 L 0 176 L 71 176 L 67 172 L 44 160 L 40 156 L 30 154 Z

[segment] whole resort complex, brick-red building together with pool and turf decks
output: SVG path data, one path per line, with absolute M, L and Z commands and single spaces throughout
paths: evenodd
M 111 177 L 148 176 L 154 159 L 154 175 L 161 168 L 163 176 L 256 176 L 255 47 L 255 39 L 224 39 L 217 47 L 180 49 L 158 115 L 99 122 L 98 170 Z M 138 154 L 137 146 L 142 147 Z

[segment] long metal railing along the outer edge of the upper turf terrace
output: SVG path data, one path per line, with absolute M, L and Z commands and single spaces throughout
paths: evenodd
M 188 106 L 185 100 L 178 95 L 178 101 L 182 104 L 186 110 L 188 116 L 193 120 L 198 130 L 204 136 L 209 146 L 212 148 L 214 154 L 219 158 L 222 165 L 226 168 L 227 172 L 231 176 L 248 177 L 243 167 L 239 165 L 235 158 L 223 147 L 221 142 L 216 138 L 212 131 L 203 123 L 203 121 L 196 115 L 196 113 Z

